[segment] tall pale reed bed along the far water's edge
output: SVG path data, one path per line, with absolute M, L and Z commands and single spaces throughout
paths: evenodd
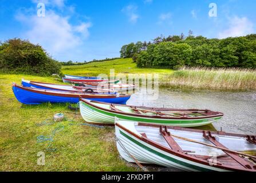
M 256 90 L 256 70 L 183 67 L 170 74 L 161 75 L 159 82 L 160 86 L 194 89 Z

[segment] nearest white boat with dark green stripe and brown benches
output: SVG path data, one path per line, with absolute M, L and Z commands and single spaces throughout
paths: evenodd
M 116 119 L 117 150 L 128 162 L 187 171 L 256 172 L 255 136 Z

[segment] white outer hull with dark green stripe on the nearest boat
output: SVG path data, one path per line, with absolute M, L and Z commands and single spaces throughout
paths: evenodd
M 174 154 L 167 153 L 155 146 L 149 145 L 139 138 L 132 136 L 125 130 L 115 127 L 116 137 L 118 141 L 116 142 L 117 150 L 119 151 L 121 157 L 123 157 L 128 162 L 135 162 L 126 152 L 126 150 L 136 158 L 137 161 L 143 164 L 156 164 L 165 167 L 174 167 L 180 170 L 193 171 L 193 172 L 212 172 L 212 171 L 229 171 L 226 169 L 215 168 L 210 165 L 202 165 L 197 162 L 188 160 L 186 158 L 181 158 L 175 156 Z M 126 150 L 124 150 L 124 148 Z

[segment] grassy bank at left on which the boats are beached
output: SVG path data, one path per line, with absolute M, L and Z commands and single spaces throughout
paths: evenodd
M 53 77 L 20 74 L 0 74 L 0 171 L 133 171 L 119 158 L 113 128 L 94 128 L 57 122 L 37 126 L 36 123 L 64 113 L 73 118 L 74 112 L 66 104 L 22 105 L 11 91 L 11 82 L 21 78 L 58 82 Z M 84 122 L 78 112 L 74 123 Z M 54 137 L 56 152 L 47 152 L 47 143 L 37 143 L 37 136 L 48 135 L 64 125 Z M 37 165 L 37 153 L 45 152 L 45 166 Z

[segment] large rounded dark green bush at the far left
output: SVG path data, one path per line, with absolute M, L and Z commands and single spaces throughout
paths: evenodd
M 61 64 L 40 45 L 17 38 L 0 43 L 0 70 L 4 73 L 51 75 L 60 74 L 60 69 Z

